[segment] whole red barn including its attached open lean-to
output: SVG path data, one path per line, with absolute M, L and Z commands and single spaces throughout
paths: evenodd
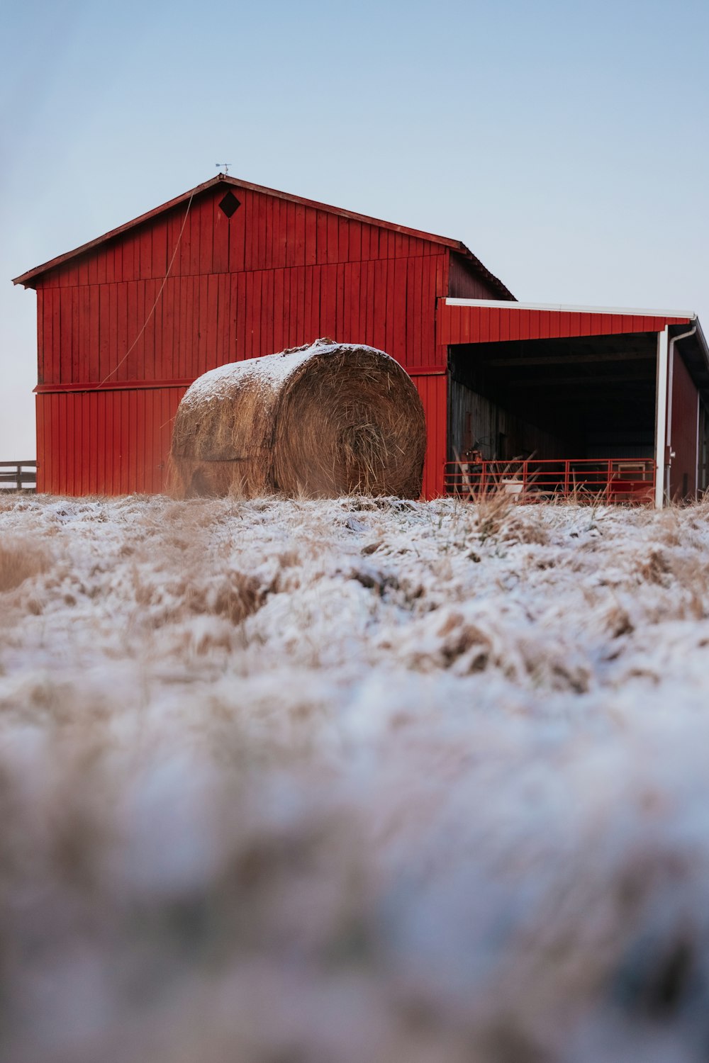
M 197 376 L 318 336 L 411 375 L 427 497 L 512 459 L 538 490 L 707 486 L 693 315 L 525 306 L 457 240 L 220 174 L 15 283 L 37 291 L 39 491 L 163 490 Z

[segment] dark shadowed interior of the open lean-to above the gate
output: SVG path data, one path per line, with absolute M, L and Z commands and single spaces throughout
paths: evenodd
M 449 350 L 450 461 L 653 457 L 656 333 Z

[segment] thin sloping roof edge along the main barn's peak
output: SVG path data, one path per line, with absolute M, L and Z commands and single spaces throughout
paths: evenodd
M 281 192 L 274 188 L 266 188 L 263 185 L 254 185 L 249 181 L 239 181 L 237 178 L 230 178 L 224 173 L 219 173 L 216 178 L 212 178 L 209 181 L 205 181 L 203 184 L 188 189 L 188 191 L 184 192 L 182 196 L 168 200 L 167 203 L 163 203 L 161 206 L 156 206 L 152 210 L 148 210 L 147 214 L 139 215 L 137 218 L 125 222 L 123 225 L 119 225 L 117 229 L 112 229 L 111 232 L 104 233 L 102 236 L 97 236 L 96 239 L 89 240 L 88 243 L 82 243 L 81 247 L 74 248 L 73 251 L 67 251 L 63 255 L 57 255 L 55 258 L 51 258 L 49 261 L 43 263 L 41 266 L 35 266 L 34 269 L 28 270 L 20 276 L 14 277 L 13 284 L 21 284 L 24 285 L 26 288 L 33 288 L 35 286 L 35 282 L 44 273 L 49 272 L 49 270 L 71 261 L 72 258 L 77 258 L 79 255 L 82 255 L 87 251 L 91 251 L 101 243 L 105 243 L 108 240 L 115 239 L 117 236 L 121 236 L 123 233 L 130 232 L 130 230 L 135 229 L 137 225 L 145 224 L 145 222 L 156 218 L 166 210 L 171 210 L 173 207 L 180 206 L 181 203 L 186 203 L 195 196 L 201 196 L 203 192 L 208 191 L 216 185 L 232 185 L 236 188 L 246 188 L 250 191 L 261 192 L 266 196 L 275 196 L 277 199 L 288 200 L 289 202 L 298 203 L 301 206 L 309 206 L 318 210 L 326 210 L 330 214 L 336 214 L 340 218 L 349 218 L 352 221 L 360 221 L 368 225 L 377 225 L 382 229 L 388 229 L 394 233 L 401 233 L 404 236 L 413 236 L 421 240 L 427 240 L 431 243 L 439 243 L 442 247 L 454 251 L 456 254 L 461 255 L 479 276 L 484 277 L 493 288 L 495 288 L 503 300 L 514 299 L 512 293 L 502 283 L 502 281 L 486 269 L 479 258 L 477 258 L 460 240 L 453 240 L 445 236 L 436 236 L 434 233 L 424 233 L 418 229 L 409 229 L 407 225 L 396 225 L 394 222 L 383 221 L 381 218 L 371 218 L 365 214 L 356 214 L 354 210 L 343 210 L 341 207 L 331 206 L 327 203 L 318 203 L 315 200 L 303 199 L 302 196 L 291 196 L 289 192 Z

